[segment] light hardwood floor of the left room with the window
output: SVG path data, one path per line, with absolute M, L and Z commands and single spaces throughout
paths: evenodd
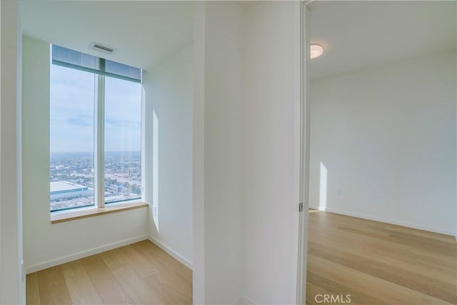
M 191 304 L 192 271 L 151 241 L 28 274 L 26 304 Z

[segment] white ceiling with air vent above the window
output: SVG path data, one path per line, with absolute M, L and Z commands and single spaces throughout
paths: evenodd
M 21 12 L 26 36 L 142 69 L 194 35 L 192 1 L 21 1 Z M 116 51 L 92 51 L 92 41 Z

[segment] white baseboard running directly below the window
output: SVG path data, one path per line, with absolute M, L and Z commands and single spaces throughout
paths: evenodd
M 60 264 L 65 264 L 70 261 L 75 261 L 76 259 L 82 259 L 87 256 L 91 256 L 94 254 L 99 254 L 104 251 L 109 251 L 112 249 L 119 248 L 121 246 L 127 246 L 129 244 L 134 244 L 139 241 L 144 241 L 148 239 L 148 236 L 143 235 L 143 236 L 137 236 L 131 239 L 124 239 L 123 241 L 116 241 L 115 243 L 112 244 L 107 244 L 105 246 L 99 246 L 94 249 L 89 249 L 87 251 L 81 251 L 76 254 L 71 254 L 69 256 L 64 256 L 64 257 L 59 257 L 58 259 L 53 259 L 51 261 L 45 261 L 44 263 L 36 264 L 34 266 L 29 266 L 26 267 L 26 274 L 31 274 L 32 272 L 35 271 L 40 271 L 46 268 L 54 267 Z

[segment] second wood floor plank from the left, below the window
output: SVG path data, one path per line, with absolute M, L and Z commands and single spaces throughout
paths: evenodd
M 37 273 L 40 303 L 43 305 L 72 304 L 66 288 L 64 274 L 60 266 L 51 267 Z

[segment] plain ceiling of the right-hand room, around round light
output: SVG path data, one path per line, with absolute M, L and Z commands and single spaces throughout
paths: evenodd
M 456 49 L 456 1 L 314 1 L 311 79 Z

